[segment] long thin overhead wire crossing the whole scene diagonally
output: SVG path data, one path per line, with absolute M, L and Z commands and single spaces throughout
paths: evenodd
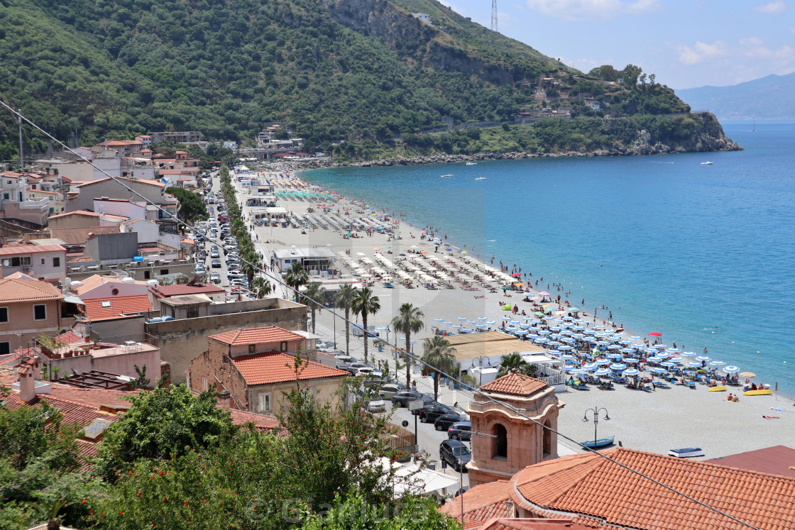
M 56 144 L 60 145 L 62 148 L 64 148 L 64 150 L 68 150 L 70 153 L 72 153 L 72 154 L 76 155 L 76 156 L 77 156 L 77 157 L 79 157 L 81 160 L 83 160 L 83 161 L 87 162 L 88 164 L 91 164 L 91 167 L 93 167 L 93 168 L 95 168 L 95 169 L 98 169 L 98 170 L 99 170 L 99 172 L 102 172 L 102 173 L 103 173 L 105 176 L 107 176 L 107 177 L 108 177 L 108 178 L 110 178 L 111 180 L 114 180 L 114 182 L 116 182 L 117 184 L 120 184 L 120 185 L 121 185 L 123 188 L 126 188 L 126 190 L 127 190 L 127 191 L 130 191 L 130 193 L 133 193 L 134 195 L 138 195 L 138 197 L 140 197 L 140 198 L 141 198 L 142 200 L 144 200 L 146 203 L 149 203 L 149 204 L 153 205 L 154 207 L 156 207 L 156 208 L 157 208 L 157 210 L 158 210 L 158 211 L 162 211 L 164 214 L 168 215 L 169 217 L 167 217 L 166 219 L 169 219 L 169 218 L 176 219 L 176 222 L 177 222 L 177 224 L 178 224 L 178 225 L 182 225 L 182 226 L 185 226 L 185 227 L 187 227 L 187 228 L 190 228 L 191 230 L 195 230 L 195 229 L 194 229 L 192 226 L 188 225 L 188 223 L 186 223 L 186 222 L 184 222 L 184 221 L 181 221 L 179 218 L 173 217 L 173 216 L 172 216 L 172 215 L 169 213 L 169 211 L 166 211 L 166 210 L 165 210 L 163 207 L 161 207 L 159 204 L 153 203 L 152 201 L 150 201 L 149 199 L 147 199 L 147 198 L 146 198 L 144 195 L 142 195 L 141 193 L 138 193 L 138 191 L 135 191 L 133 188 L 130 188 L 130 186 L 128 186 L 128 185 L 127 185 L 127 184 L 125 184 L 125 183 L 124 183 L 122 180 L 120 180 L 120 177 L 112 176 L 110 173 L 108 173 L 108 172 L 107 172 L 107 171 L 105 171 L 104 169 L 97 167 L 97 166 L 96 166 L 96 165 L 93 163 L 93 161 L 90 161 L 90 160 L 88 160 L 87 158 L 83 157 L 82 155 L 80 155 L 80 153 L 77 153 L 75 150 L 73 150 L 73 149 L 69 148 L 67 145 L 65 145 L 65 144 L 64 144 L 62 141 L 58 140 L 56 137 L 53 137 L 53 136 L 52 136 L 52 134 L 50 134 L 50 133 L 48 133 L 47 131 L 45 131 L 45 130 L 41 129 L 41 127 L 40 127 L 40 126 L 37 126 L 35 123 L 31 122 L 31 121 L 30 121 L 28 118 L 25 118 L 25 116 L 23 116 L 23 115 L 22 115 L 20 112 L 17 112 L 17 110 L 14 110 L 14 109 L 13 109 L 11 106 L 9 106 L 9 105 L 8 105 L 8 104 L 7 104 L 5 101 L 3 101 L 2 99 L 0 99 L 0 106 L 3 106 L 3 107 L 5 107 L 5 108 L 6 108 L 6 110 L 9 110 L 9 111 L 10 111 L 10 113 L 14 114 L 14 116 L 15 116 L 15 117 L 17 117 L 17 118 L 21 119 L 22 121 L 24 121 L 24 122 L 28 123 L 28 124 L 29 124 L 29 126 L 32 126 L 34 129 L 36 129 L 36 130 L 37 130 L 37 131 L 39 131 L 40 133 L 44 134 L 44 135 L 45 135 L 46 137 L 48 137 L 50 140 L 52 140 L 52 141 L 56 142 Z M 209 242 L 214 242 L 216 245 L 223 246 L 223 244 L 222 244 L 222 243 L 220 243 L 220 242 L 219 242 L 219 240 L 215 240 L 215 239 L 212 239 L 212 238 L 208 237 L 208 236 L 207 236 L 207 231 L 206 231 L 206 230 L 205 230 L 205 232 L 204 232 L 204 233 L 200 233 L 200 235 L 201 235 L 201 236 L 202 236 L 202 237 L 203 237 L 203 238 L 204 238 L 206 241 L 209 241 Z M 281 277 L 280 277 L 280 278 L 274 278 L 274 277 L 273 277 L 272 275 L 270 275 L 270 274 L 269 274 L 269 273 L 268 273 L 268 272 L 267 272 L 265 269 L 262 269 L 262 267 L 260 267 L 258 264 L 256 264 L 256 263 L 252 263 L 252 262 L 250 262 L 250 261 L 246 261 L 246 259 L 245 259 L 244 257 L 242 257 L 242 256 L 241 256 L 241 261 L 243 261 L 243 262 L 245 262 L 246 264 L 250 265 L 250 266 L 251 266 L 253 269 L 256 269 L 256 270 L 258 270 L 258 272 L 260 272 L 260 273 L 262 273 L 262 274 L 266 275 L 267 277 L 271 277 L 271 278 L 273 278 L 274 280 L 278 280 L 278 281 L 279 281 L 279 283 L 280 283 L 280 284 L 282 284 L 282 286 L 283 286 L 283 287 L 285 287 L 285 288 L 286 288 L 286 289 L 288 289 L 289 291 L 293 291 L 293 292 L 295 293 L 295 295 L 297 296 L 297 299 L 298 299 L 298 300 L 301 300 L 301 297 L 303 297 L 303 298 L 305 298 L 306 300 L 308 300 L 308 301 L 312 302 L 313 304 L 319 304 L 319 305 L 321 305 L 321 306 L 325 307 L 325 304 L 323 304 L 322 302 L 320 302 L 320 301 L 318 301 L 318 300 L 312 300 L 312 299 L 311 299 L 311 298 L 309 298 L 308 296 L 306 296 L 306 295 L 302 294 L 301 292 L 299 292 L 299 290 L 298 290 L 298 289 L 296 289 L 296 288 L 293 288 L 292 286 L 290 286 L 290 285 L 286 284 L 286 283 L 285 283 L 285 281 L 284 281 L 284 280 L 283 280 Z M 342 319 L 342 320 L 343 320 L 343 322 L 345 322 L 345 323 L 348 323 L 348 324 L 353 324 L 353 325 L 355 325 L 355 323 L 354 323 L 353 321 L 351 321 L 351 319 L 346 319 L 344 315 L 338 315 L 338 314 L 337 314 L 337 312 L 336 312 L 336 311 L 334 311 L 333 309 L 332 309 L 332 310 L 328 310 L 328 309 L 327 309 L 327 311 L 330 311 L 330 312 L 332 313 L 332 315 L 334 315 L 334 316 L 335 316 L 335 318 Z M 396 333 L 396 336 L 397 336 L 397 333 Z M 367 340 L 367 337 L 368 337 L 368 332 L 367 332 L 367 330 L 364 330 L 364 340 L 365 340 L 365 341 Z M 380 339 L 380 340 L 382 340 L 382 342 L 384 342 L 384 343 L 385 343 L 387 346 L 391 346 L 391 347 L 395 348 L 396 350 L 400 350 L 400 348 L 398 348 L 398 346 L 397 346 L 397 345 L 395 345 L 395 344 L 392 344 L 392 343 L 390 343 L 390 342 L 387 342 L 386 340 L 383 340 L 383 339 Z M 396 339 L 396 340 L 397 340 L 397 339 Z M 407 345 L 407 346 L 408 346 L 408 345 Z M 406 350 L 409 350 L 409 348 L 408 348 L 408 347 L 406 347 Z M 448 379 L 451 379 L 452 381 L 455 381 L 456 383 L 463 384 L 463 383 L 462 383 L 462 382 L 461 382 L 459 379 L 457 379 L 456 377 L 453 377 L 452 375 L 449 375 L 448 373 L 440 372 L 440 371 L 439 371 L 439 370 L 437 370 L 437 369 L 436 369 L 434 366 L 431 366 L 431 365 L 429 365 L 427 362 L 423 361 L 421 358 L 418 358 L 418 357 L 414 356 L 414 355 L 413 355 L 413 354 L 411 354 L 409 351 L 405 351 L 404 353 L 405 353 L 405 355 L 406 355 L 406 356 L 408 356 L 409 358 L 411 358 L 411 359 L 412 359 L 414 362 L 419 362 L 419 363 L 421 363 L 421 365 L 423 365 L 423 366 L 426 366 L 427 368 L 430 368 L 430 369 L 432 369 L 432 370 L 434 370 L 434 371 L 437 371 L 437 372 L 439 372 L 439 373 L 440 373 L 440 375 L 444 375 L 444 377 L 447 377 Z M 596 451 L 595 449 L 593 449 L 593 448 L 591 448 L 591 447 L 584 446 L 582 443 L 579 443 L 579 442 L 577 442 L 575 439 L 572 439 L 572 438 L 571 438 L 571 437 L 569 437 L 568 435 L 564 435 L 564 434 L 563 434 L 563 433 L 561 433 L 560 431 L 558 431 L 558 430 L 556 430 L 556 429 L 553 429 L 552 427 L 549 427 L 549 426 L 547 426 L 547 425 L 545 425 L 545 424 L 542 424 L 542 423 L 541 423 L 541 422 L 539 422 L 538 420 L 533 420 L 533 418 L 531 418 L 531 417 L 527 416 L 527 415 L 526 415 L 524 412 L 522 412 L 522 411 L 520 411 L 520 410 L 518 410 L 518 409 L 514 408 L 512 405 L 510 405 L 510 404 L 508 404 L 508 403 L 505 403 L 505 402 L 503 402 L 503 401 L 501 401 L 501 400 L 495 399 L 494 397 L 491 397 L 491 396 L 490 396 L 490 395 L 488 395 L 487 393 L 483 393 L 483 392 L 482 392 L 480 389 L 475 389 L 475 390 L 473 390 L 473 391 L 472 391 L 472 393 L 473 393 L 473 394 L 477 394 L 478 396 L 480 396 L 480 397 L 483 397 L 483 398 L 485 398 L 486 400 L 489 400 L 489 401 L 491 401 L 491 402 L 492 402 L 492 403 L 494 403 L 494 404 L 498 404 L 499 406 L 501 406 L 501 407 L 504 407 L 504 408 L 506 408 L 506 409 L 510 410 L 510 412 L 514 412 L 514 414 L 517 414 L 518 416 L 520 416 L 520 417 L 524 418 L 525 420 L 529 420 L 529 421 L 533 422 L 533 424 L 537 424 L 539 427 L 541 427 L 541 428 L 543 428 L 543 429 L 547 429 L 547 430 L 549 430 L 549 431 L 551 431 L 551 432 L 555 433 L 556 435 L 560 436 L 561 438 L 568 440 L 569 442 L 576 443 L 578 446 L 582 447 L 582 448 L 583 448 L 583 449 L 585 449 L 586 451 L 591 451 L 591 453 L 593 453 L 593 454 L 595 454 L 595 455 L 599 456 L 599 458 L 604 458 L 604 459 L 605 459 L 605 460 L 607 460 L 608 462 L 612 462 L 612 463 L 614 463 L 616 466 L 620 466 L 620 467 L 622 467 L 623 469 L 630 471 L 631 473 L 637 474 L 638 476 L 640 476 L 640 477 L 642 477 L 642 478 L 646 478 L 646 480 L 649 480 L 650 482 L 653 482 L 653 483 L 654 483 L 654 484 L 656 484 L 657 486 L 660 486 L 660 487 L 662 487 L 662 488 L 664 488 L 664 489 L 668 489 L 670 492 L 672 492 L 672 493 L 675 493 L 675 494 L 677 494 L 677 495 L 679 495 L 679 496 L 681 496 L 681 497 L 684 497 L 685 499 L 688 499 L 688 501 L 692 501 L 692 502 L 696 503 L 697 505 L 700 505 L 700 506 L 702 506 L 702 507 L 704 507 L 704 508 L 706 508 L 706 509 L 712 510 L 712 512 L 715 512 L 715 513 L 719 514 L 720 516 L 724 516 L 724 517 L 726 517 L 726 518 L 727 518 L 727 519 L 729 519 L 729 520 L 733 520 L 733 521 L 735 521 L 735 523 L 742 524 L 743 526 L 746 526 L 747 528 L 753 528 L 753 530 L 759 530 L 759 528 L 757 528 L 757 527 L 753 526 L 752 524 L 749 524 L 749 523 L 747 523 L 747 522 L 745 522 L 745 521 L 743 521 L 743 520 L 739 520 L 737 517 L 735 517 L 735 516 L 732 516 L 731 514 L 725 513 L 725 512 L 723 512 L 723 511 L 721 511 L 720 509 L 717 509 L 717 508 L 715 508 L 714 506 L 708 505 L 707 503 L 705 503 L 705 502 L 703 502 L 703 501 L 699 501 L 698 499 L 696 499 L 696 498 L 693 498 L 693 497 L 691 497 L 690 495 L 688 495 L 687 493 L 681 492 L 681 491 L 679 491 L 678 489 L 675 489 L 675 488 L 673 488 L 672 486 L 667 486 L 667 485 L 663 484 L 662 482 L 658 481 L 656 478 L 652 478 L 652 477 L 650 477 L 649 475 L 647 475 L 647 474 L 644 474 L 642 471 L 639 471 L 639 470 L 634 470 L 633 468 L 631 468 L 630 466 L 627 466 L 626 464 L 622 464 L 621 462 L 617 462 L 617 461 L 616 461 L 614 458 L 611 458 L 611 457 L 610 457 L 610 456 L 608 456 L 608 455 L 604 455 L 603 453 L 601 453 L 601 452 L 599 452 L 599 451 Z

